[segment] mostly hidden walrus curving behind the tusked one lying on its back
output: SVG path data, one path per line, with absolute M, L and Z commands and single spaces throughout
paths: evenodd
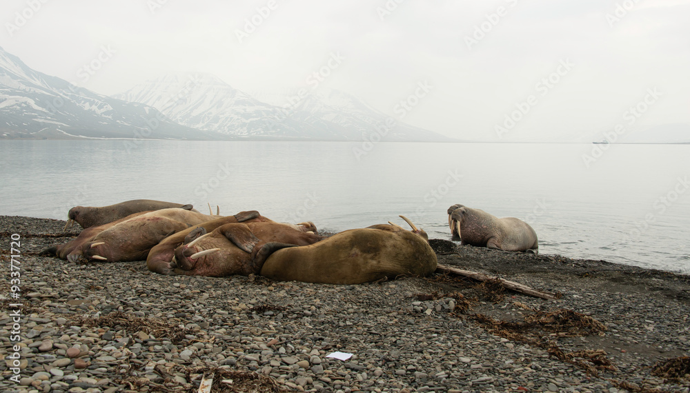
M 163 241 L 158 243 L 151 251 L 148 253 L 148 258 L 146 259 L 146 266 L 148 270 L 156 272 L 159 274 L 174 274 L 172 268 L 170 267 L 170 261 L 172 261 L 172 256 L 174 255 L 175 248 L 178 248 L 182 244 L 189 243 L 190 241 L 201 236 L 201 232 L 212 232 L 221 225 L 228 223 L 273 223 L 275 221 L 267 219 L 262 216 L 256 210 L 249 210 L 246 212 L 239 212 L 234 216 L 221 217 L 213 221 L 207 221 L 206 223 L 201 223 L 195 225 L 187 230 L 177 232 L 171 236 L 166 237 Z M 203 228 L 203 230 L 197 230 L 197 228 Z M 311 231 L 316 232 L 316 227 L 313 223 L 301 223 L 299 226 L 295 225 L 295 228 L 299 228 L 303 232 Z M 190 236 L 190 233 L 196 231 Z M 190 236 L 188 238 L 188 236 Z

